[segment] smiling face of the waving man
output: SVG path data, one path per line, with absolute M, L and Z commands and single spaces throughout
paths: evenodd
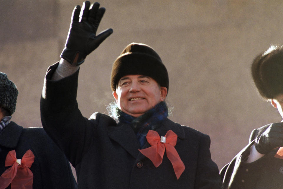
M 113 96 L 118 107 L 124 113 L 139 117 L 167 95 L 166 87 L 159 87 L 151 77 L 144 75 L 126 75 L 122 77 Z

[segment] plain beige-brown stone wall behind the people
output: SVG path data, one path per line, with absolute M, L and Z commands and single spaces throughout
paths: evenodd
M 12 120 L 41 126 L 47 67 L 58 61 L 77 0 L 1 0 L 0 71 L 18 87 Z M 221 169 L 254 128 L 279 122 L 251 80 L 250 64 L 270 44 L 282 45 L 282 1 L 101 0 L 98 32 L 113 34 L 81 66 L 78 104 L 85 117 L 113 100 L 113 61 L 131 42 L 152 46 L 169 72 L 170 119 L 207 133 Z M 190 155 L 190 154 L 188 154 Z

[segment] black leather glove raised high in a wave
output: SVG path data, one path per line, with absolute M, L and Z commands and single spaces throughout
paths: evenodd
M 105 12 L 105 8 L 99 6 L 99 3 L 90 5 L 89 1 L 83 2 L 82 10 L 79 5 L 75 6 L 65 48 L 60 55 L 69 63 L 82 64 L 85 57 L 113 33 L 112 29 L 107 29 L 96 36 L 98 25 Z M 80 16 L 81 20 L 79 20 Z

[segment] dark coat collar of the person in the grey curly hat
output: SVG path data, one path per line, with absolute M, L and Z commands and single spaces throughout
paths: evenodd
M 0 133 L 0 146 L 16 148 L 22 131 L 22 126 L 11 121 Z

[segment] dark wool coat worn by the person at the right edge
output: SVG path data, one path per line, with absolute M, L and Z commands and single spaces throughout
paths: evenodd
M 223 188 L 283 188 L 283 159 L 274 157 L 278 148 L 254 162 L 246 163 L 254 139 L 270 125 L 253 130 L 249 144 L 229 164 L 222 168 L 220 175 L 223 180 Z

